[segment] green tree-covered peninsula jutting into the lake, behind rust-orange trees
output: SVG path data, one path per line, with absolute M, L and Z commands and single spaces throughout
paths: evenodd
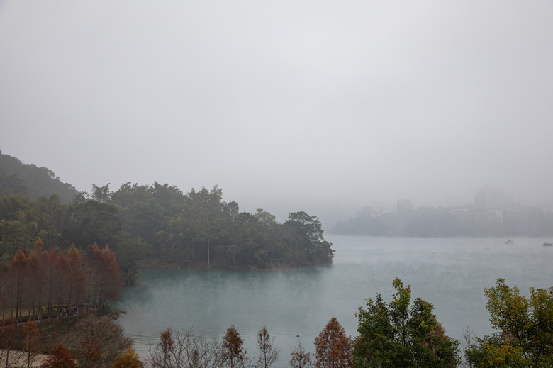
M 117 191 L 92 186 L 62 204 L 57 194 L 35 201 L 10 190 L 0 195 L 0 261 L 18 250 L 75 245 L 110 247 L 123 281 L 132 284 L 138 267 L 187 269 L 272 269 L 328 264 L 330 242 L 321 223 L 305 212 L 290 213 L 284 223 L 258 209 L 241 212 L 223 201 L 223 189 L 183 193 L 169 184 L 126 183 Z

